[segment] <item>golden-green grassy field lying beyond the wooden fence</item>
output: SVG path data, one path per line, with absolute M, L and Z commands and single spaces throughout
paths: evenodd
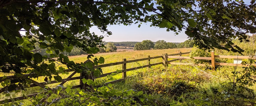
M 104 57 L 105 58 L 105 63 L 113 63 L 113 62 L 119 62 L 122 61 L 123 58 L 126 58 L 127 60 L 134 60 L 134 59 L 141 59 L 141 58 L 147 58 L 148 56 L 154 57 L 154 56 L 161 56 L 162 54 L 168 53 L 168 54 L 176 54 L 179 51 L 181 52 L 189 52 L 191 50 L 191 48 L 184 48 L 184 49 L 163 49 L 163 50 L 142 50 L 142 51 L 122 51 L 122 52 L 110 52 L 110 53 L 99 53 L 99 54 L 94 54 L 95 57 Z M 71 61 L 80 63 L 80 62 L 84 62 L 87 60 L 87 55 L 80 55 L 80 56 L 70 56 L 69 59 Z M 159 59 L 152 59 L 151 63 L 157 63 L 157 62 L 161 62 L 162 58 Z M 133 68 L 133 67 L 138 67 L 138 66 L 142 66 L 142 65 L 146 65 L 147 61 L 140 61 L 140 62 L 134 62 L 134 63 L 127 63 L 127 68 Z M 163 67 L 163 65 L 159 65 L 156 67 Z M 116 70 L 121 70 L 122 69 L 122 65 L 115 65 L 115 66 L 111 66 L 111 67 L 105 67 L 102 68 L 103 73 L 109 73 L 109 72 L 113 72 Z M 140 71 L 145 71 L 147 70 L 147 68 L 144 69 L 139 69 L 139 70 L 135 70 L 135 71 L 130 71 L 127 72 L 127 76 L 133 76 L 135 75 L 137 72 Z M 3 76 L 3 73 L 0 73 L 1 76 Z M 7 75 L 7 74 L 6 74 Z M 10 74 L 8 74 L 10 75 Z M 80 74 L 76 74 L 75 76 L 79 76 Z M 69 74 L 63 74 L 60 75 L 62 76 L 62 78 L 66 78 L 69 76 Z M 114 78 L 115 79 L 120 79 L 122 77 L 121 74 L 115 75 Z M 44 82 L 44 77 L 39 77 L 38 79 L 33 79 L 36 80 L 38 82 Z M 52 80 L 54 80 L 52 78 Z M 98 81 L 103 81 L 104 78 L 99 78 Z M 47 85 L 50 88 L 55 88 L 59 83 L 56 84 L 49 84 Z M 79 80 L 73 80 L 73 81 L 68 81 L 64 84 L 64 86 L 66 85 L 70 85 L 70 86 L 74 86 L 74 85 L 79 85 Z M 2 86 L 0 85 L 0 88 L 2 88 Z M 37 93 L 37 92 L 41 92 L 44 91 L 43 88 L 40 87 L 32 87 L 32 88 L 27 88 L 26 91 L 19 91 L 19 92 L 12 92 L 10 93 L 10 97 L 14 98 L 14 97 L 19 97 L 22 96 L 22 94 L 24 95 L 29 95 L 29 94 L 33 94 L 33 93 Z M 54 96 L 54 95 L 53 95 Z M 8 97 L 7 97 L 8 98 Z M 0 95 L 0 100 L 4 100 L 6 99 L 5 95 Z M 25 100 L 26 101 L 26 100 Z M 30 103 L 30 102 L 25 102 L 25 103 Z M 26 105 L 26 104 L 24 104 Z

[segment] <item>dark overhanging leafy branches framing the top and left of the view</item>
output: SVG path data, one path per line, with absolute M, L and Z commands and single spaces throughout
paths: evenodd
M 156 8 L 154 8 L 156 7 Z M 108 25 L 150 22 L 178 34 L 184 31 L 200 48 L 219 48 L 241 53 L 231 39 L 248 41 L 245 33 L 255 33 L 255 0 L 114 0 L 114 1 L 32 1 L 0 2 L 0 67 L 1 72 L 16 74 L 5 77 L 8 90 L 24 88 L 28 78 L 48 76 L 60 81 L 57 63 L 78 73 L 90 73 L 92 64 L 70 61 L 62 52 L 74 47 L 86 54 L 99 52 L 103 36 L 90 32 L 97 26 L 102 32 Z M 151 15 L 148 15 L 150 12 Z M 21 35 L 20 31 L 25 31 Z M 36 46 L 39 45 L 39 48 Z M 49 55 L 35 51 L 45 49 Z M 88 55 L 91 58 L 93 55 Z M 103 63 L 94 58 L 94 65 Z M 19 74 L 29 74 L 20 77 Z M 20 84 L 17 85 L 17 82 Z

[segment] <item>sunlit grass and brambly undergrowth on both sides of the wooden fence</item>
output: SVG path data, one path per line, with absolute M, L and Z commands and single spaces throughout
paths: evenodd
M 162 54 L 176 54 L 179 52 L 192 52 L 190 56 L 208 56 L 209 52 L 197 48 L 163 49 L 163 50 L 141 50 L 123 51 L 94 54 L 94 58 L 104 57 L 106 63 L 120 62 L 123 58 L 127 60 L 147 58 L 148 56 L 161 56 Z M 225 55 L 227 52 L 216 50 L 216 54 Z M 234 55 L 234 54 L 229 54 Z M 187 55 L 183 55 L 187 56 Z M 70 60 L 80 63 L 87 60 L 87 55 L 70 56 Z M 232 62 L 232 59 L 216 61 Z M 248 61 L 248 60 L 244 60 Z M 151 63 L 162 62 L 162 58 L 152 59 Z M 207 61 L 197 61 L 194 59 L 182 60 L 182 62 L 207 63 Z M 147 61 L 127 63 L 127 69 L 146 65 Z M 254 67 L 255 68 L 255 67 Z M 122 64 L 102 68 L 103 73 L 121 70 Z M 254 76 L 247 75 L 247 69 L 242 67 L 221 66 L 212 70 L 209 67 L 197 67 L 193 65 L 156 65 L 151 68 L 143 68 L 127 72 L 125 81 L 112 84 L 111 91 L 133 90 L 143 91 L 143 98 L 138 99 L 134 94 L 134 101 L 140 105 L 254 105 L 256 102 L 256 85 L 251 82 Z M 255 71 L 250 71 L 255 74 Z M 246 74 L 248 77 L 243 77 Z M 69 74 L 61 75 L 63 78 Z M 74 76 L 79 76 L 76 74 Z M 113 76 L 114 80 L 120 79 L 122 74 Z M 250 79 L 251 78 L 251 79 Z M 38 82 L 44 82 L 44 77 L 40 77 Z M 237 80 L 238 79 L 238 80 Z M 54 80 L 54 79 L 52 79 Z M 95 82 L 102 84 L 105 77 L 96 79 Z M 47 85 L 54 88 L 57 84 Z M 79 85 L 79 80 L 68 81 L 63 86 Z M 33 87 L 26 91 L 11 92 L 10 97 L 28 95 L 44 91 L 43 88 Z M 53 94 L 48 98 L 57 97 Z M 5 95 L 0 96 L 5 99 Z M 23 100 L 24 105 L 31 104 L 28 100 Z

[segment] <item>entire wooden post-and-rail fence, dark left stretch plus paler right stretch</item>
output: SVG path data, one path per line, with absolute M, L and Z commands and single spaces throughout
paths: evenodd
M 248 66 L 249 64 L 234 64 L 234 63 L 219 63 L 219 62 L 215 62 L 215 58 L 230 58 L 230 59 L 256 59 L 256 58 L 251 58 L 250 56 L 224 56 L 224 55 L 214 55 L 214 52 L 211 52 L 211 57 L 188 57 L 188 56 L 182 56 L 184 54 L 189 54 L 190 52 L 179 52 L 178 54 L 162 54 L 162 56 L 155 56 L 155 57 L 150 57 L 148 56 L 147 58 L 142 58 L 142 59 L 135 59 L 135 60 L 126 60 L 126 59 L 123 59 L 121 62 L 115 62 L 115 63 L 108 63 L 108 64 L 101 64 L 101 65 L 95 65 L 93 66 L 94 69 L 96 68 L 103 68 L 103 67 L 109 67 L 109 66 L 114 66 L 114 65 L 120 65 L 122 64 L 122 70 L 120 72 L 110 72 L 110 73 L 105 73 L 105 74 L 101 74 L 99 76 L 93 76 L 92 74 L 90 75 L 87 75 L 85 73 L 80 73 L 80 76 L 77 76 L 77 77 L 73 77 L 75 74 L 76 74 L 76 71 L 74 70 L 64 70 L 65 72 L 73 72 L 71 73 L 67 78 L 64 78 L 62 79 L 60 82 L 60 85 L 63 85 L 65 84 L 65 82 L 67 81 L 71 81 L 71 80 L 78 80 L 80 79 L 80 84 L 79 85 L 76 85 L 76 86 L 72 86 L 72 88 L 80 88 L 80 89 L 87 89 L 87 87 L 89 85 L 87 84 L 83 84 L 81 79 L 83 78 L 86 78 L 86 79 L 91 79 L 91 80 L 95 80 L 97 78 L 101 78 L 101 77 L 105 77 L 107 75 L 111 75 L 111 73 L 122 73 L 122 78 L 121 79 L 118 79 L 118 80 L 115 80 L 115 81 L 111 81 L 111 82 L 107 82 L 105 84 L 109 84 L 109 83 L 116 83 L 116 82 L 120 82 L 120 81 L 124 81 L 125 78 L 127 77 L 126 75 L 126 72 L 128 71 L 132 71 L 132 70 L 137 70 L 137 69 L 142 69 L 142 68 L 151 68 L 151 66 L 155 66 L 155 65 L 160 65 L 160 64 L 163 64 L 165 67 L 168 66 L 168 64 L 173 64 L 173 65 L 197 65 L 197 66 L 203 66 L 203 67 L 206 67 L 206 66 L 212 66 L 212 69 L 215 70 L 215 66 L 216 65 L 223 65 L 223 66 Z M 178 55 L 178 56 L 177 56 Z M 157 58 L 162 58 L 162 62 L 158 62 L 158 63 L 154 63 L 154 64 L 151 64 L 151 59 L 157 59 Z M 176 58 L 176 59 L 173 59 L 173 60 L 168 60 L 168 58 Z M 193 64 L 193 63 L 182 63 L 181 60 L 183 59 L 201 59 L 201 60 L 211 60 L 211 64 L 209 65 L 206 65 L 206 64 Z M 132 62 L 138 62 L 138 61 L 145 61 L 147 60 L 147 65 L 143 65 L 143 66 L 139 66 L 139 67 L 134 67 L 134 68 L 129 68 L 129 69 L 126 69 L 126 63 L 132 63 Z M 173 61 L 178 61 L 180 60 L 179 62 L 173 62 Z M 86 60 L 85 62 L 92 62 L 91 60 Z M 92 62 L 93 63 L 93 62 Z M 254 65 L 256 66 L 255 64 L 251 64 L 251 65 Z M 60 72 L 61 73 L 61 72 Z M 27 77 L 27 76 L 31 76 L 33 74 L 25 74 L 24 77 Z M 43 75 L 39 75 L 39 76 L 43 76 Z M 7 76 L 6 78 L 10 78 L 10 77 L 14 77 L 14 76 Z M 3 77 L 0 77 L 2 80 L 3 80 Z M 30 88 L 30 87 L 36 87 L 36 86 L 39 86 L 39 87 L 42 87 L 42 88 L 45 88 L 46 86 L 45 85 L 48 85 L 48 84 L 54 84 L 54 83 L 59 83 L 57 81 L 51 81 L 50 83 L 39 83 L 39 82 L 36 82 L 34 80 L 31 80 L 32 84 L 30 84 L 29 87 L 27 88 Z M 4 92 L 5 90 L 7 90 L 7 87 L 8 86 L 5 86 L 4 88 L 0 89 L 0 93 Z M 48 88 L 49 90 L 53 90 L 52 88 Z M 62 90 L 64 90 L 65 88 L 62 88 Z M 54 91 L 54 90 L 53 90 Z M 55 91 L 54 91 L 55 92 Z M 44 93 L 44 92 L 41 92 L 41 93 Z M 23 100 L 23 99 L 26 99 L 28 97 L 33 97 L 33 96 L 36 96 L 37 94 L 39 93 L 35 93 L 35 94 L 30 94 L 30 95 L 26 95 L 25 97 L 16 97 L 16 98 L 12 98 L 12 99 L 8 99 L 8 100 L 1 100 L 0 101 L 0 104 L 1 103 L 7 103 L 7 102 L 11 102 L 12 100 Z

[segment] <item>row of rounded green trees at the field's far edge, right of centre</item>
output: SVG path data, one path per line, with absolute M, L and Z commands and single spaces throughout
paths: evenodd
M 194 41 L 192 40 L 186 40 L 178 45 L 175 43 L 166 42 L 164 40 L 158 40 L 155 43 L 150 40 L 144 40 L 141 43 L 136 43 L 134 45 L 134 50 L 189 48 L 193 46 Z

